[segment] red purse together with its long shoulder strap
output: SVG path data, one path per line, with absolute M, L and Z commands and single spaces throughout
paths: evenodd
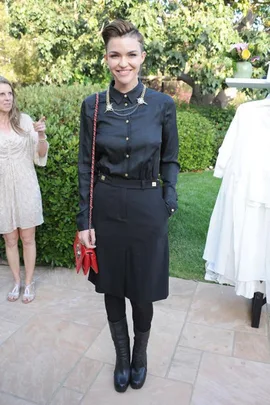
M 93 138 L 92 138 L 92 162 L 91 162 L 91 178 L 90 178 L 90 207 L 89 207 L 89 227 L 92 224 L 92 210 L 93 210 L 93 190 L 94 190 L 94 171 L 95 171 L 95 147 L 96 147 L 96 133 L 97 133 L 97 114 L 98 114 L 98 99 L 99 94 L 96 93 L 95 112 L 93 121 Z M 89 232 L 90 233 L 90 232 Z M 90 269 L 98 273 L 97 256 L 94 248 L 85 247 L 80 239 L 79 232 L 76 233 L 73 243 L 76 271 L 79 273 L 80 269 L 87 275 Z

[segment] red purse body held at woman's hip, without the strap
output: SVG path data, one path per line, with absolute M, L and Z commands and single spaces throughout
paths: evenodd
M 75 241 L 73 244 L 75 261 L 76 261 L 76 271 L 82 269 L 83 274 L 87 275 L 90 268 L 98 273 L 97 256 L 94 248 L 86 248 L 79 240 L 79 233 L 76 233 Z

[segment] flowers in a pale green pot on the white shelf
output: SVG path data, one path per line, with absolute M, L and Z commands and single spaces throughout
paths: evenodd
M 233 60 L 233 70 L 235 78 L 247 78 L 252 76 L 252 63 L 259 60 L 258 56 L 251 57 L 248 49 L 249 44 L 239 43 L 231 46 L 229 56 Z

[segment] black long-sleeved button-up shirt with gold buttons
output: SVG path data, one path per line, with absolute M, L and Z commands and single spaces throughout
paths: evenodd
M 157 180 L 163 182 L 163 197 L 169 209 L 177 209 L 175 186 L 178 164 L 178 134 L 176 109 L 173 99 L 152 89 L 147 89 L 144 100 L 134 113 L 130 107 L 137 105 L 143 84 L 128 93 L 120 93 L 110 85 L 110 103 L 118 116 L 106 110 L 106 92 L 100 93 L 96 136 L 96 173 L 120 176 L 125 179 Z M 80 212 L 77 216 L 79 230 L 88 229 L 89 185 L 95 95 L 87 97 L 81 108 L 79 146 Z M 126 110 L 126 111 L 125 111 Z

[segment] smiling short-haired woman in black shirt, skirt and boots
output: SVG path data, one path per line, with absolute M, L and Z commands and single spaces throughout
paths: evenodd
M 95 95 L 82 104 L 77 225 L 82 243 L 96 245 L 99 273 L 90 270 L 89 280 L 105 294 L 116 350 L 114 386 L 124 392 L 129 384 L 134 389 L 144 384 L 153 301 L 168 296 L 168 218 L 177 209 L 178 135 L 173 99 L 138 79 L 146 56 L 139 31 L 130 22 L 116 20 L 102 36 L 114 80 L 100 94 L 92 224 L 88 217 Z M 131 365 L 125 297 L 133 310 Z

